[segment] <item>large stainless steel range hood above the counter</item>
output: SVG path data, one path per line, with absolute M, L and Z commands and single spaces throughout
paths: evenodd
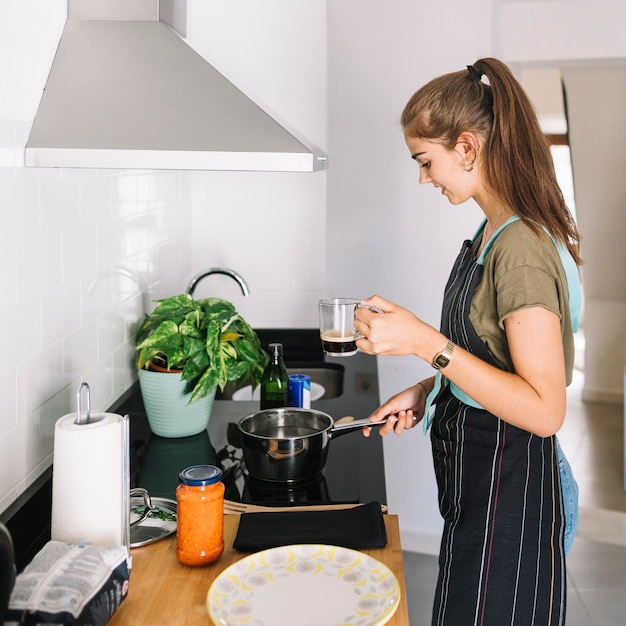
M 25 165 L 312 172 L 326 155 L 159 21 L 158 0 L 69 0 Z

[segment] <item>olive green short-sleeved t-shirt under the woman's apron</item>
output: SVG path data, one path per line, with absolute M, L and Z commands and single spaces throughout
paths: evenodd
M 480 246 L 480 237 L 474 244 Z M 561 320 L 567 384 L 574 369 L 574 336 L 561 258 L 547 234 L 536 234 L 521 220 L 500 232 L 484 259 L 484 272 L 470 308 L 470 321 L 503 369 L 514 371 L 504 319 L 541 306 Z

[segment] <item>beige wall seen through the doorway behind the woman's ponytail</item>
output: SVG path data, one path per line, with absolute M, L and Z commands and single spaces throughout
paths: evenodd
M 619 403 L 626 346 L 626 66 L 566 67 L 563 81 L 585 259 L 583 398 Z

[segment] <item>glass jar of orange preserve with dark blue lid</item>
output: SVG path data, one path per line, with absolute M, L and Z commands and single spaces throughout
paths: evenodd
M 224 551 L 224 483 L 214 465 L 193 465 L 176 488 L 176 556 L 185 565 L 206 565 Z

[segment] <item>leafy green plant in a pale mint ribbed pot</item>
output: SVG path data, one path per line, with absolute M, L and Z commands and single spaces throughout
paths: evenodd
M 254 330 L 220 298 L 159 300 L 135 343 L 148 421 L 164 437 L 202 432 L 217 387 L 240 379 L 256 387 L 269 360 Z

